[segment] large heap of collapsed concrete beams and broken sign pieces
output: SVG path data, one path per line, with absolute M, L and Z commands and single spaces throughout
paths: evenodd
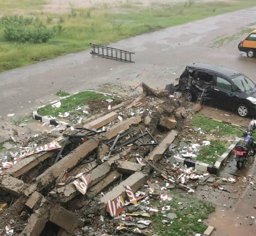
M 180 94 L 142 86 L 153 97 L 116 106 L 43 144 L 17 147 L 1 160 L 0 235 L 149 235 L 151 221 L 143 217 L 161 211 L 149 207 L 150 199 L 171 201 L 171 189 L 192 193 L 207 181 L 209 172 L 163 158 L 198 106 L 186 110 Z M 159 180 L 151 183 L 156 173 Z M 171 224 L 176 216 L 166 217 Z

